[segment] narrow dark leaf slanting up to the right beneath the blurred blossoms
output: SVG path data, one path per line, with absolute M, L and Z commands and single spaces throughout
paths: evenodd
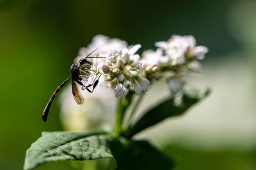
M 205 90 L 203 94 L 195 89 L 184 92 L 182 104 L 180 106 L 175 106 L 173 97 L 167 99 L 163 103 L 148 110 L 136 124 L 130 127 L 127 132 L 124 132 L 124 136 L 131 138 L 134 134 L 137 134 L 152 125 L 156 125 L 166 118 L 182 115 L 182 113 L 188 110 L 193 104 L 207 96 L 209 92 L 209 89 Z

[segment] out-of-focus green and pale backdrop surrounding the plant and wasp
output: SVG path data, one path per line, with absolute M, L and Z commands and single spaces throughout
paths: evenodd
M 255 17 L 256 1 L 244 0 L 1 0 L 0 169 L 22 169 L 42 131 L 62 130 L 58 101 L 47 123 L 42 111 L 79 48 L 97 34 L 141 43 L 139 52 L 172 34 L 192 34 L 207 46 L 203 73 L 188 80 L 211 87 L 211 96 L 137 138 L 177 159 L 175 169 L 256 169 Z M 57 167 L 70 168 L 57 162 L 40 169 Z

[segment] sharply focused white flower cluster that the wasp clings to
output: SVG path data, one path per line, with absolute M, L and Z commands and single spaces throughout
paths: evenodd
M 92 44 L 88 45 L 87 48 L 81 48 L 77 60 L 86 57 L 84 55 L 95 48 L 99 48 L 99 50 L 93 56 L 105 58 L 93 59 L 93 65 L 90 67 L 92 76 L 90 77 L 103 75 L 105 83 L 115 90 L 118 98 L 126 96 L 129 90 L 136 92 L 136 94 L 142 94 L 148 90 L 150 82 L 147 78 L 140 76 L 142 71 L 141 57 L 136 54 L 141 45 L 127 47 L 125 41 L 100 35 L 93 38 Z

